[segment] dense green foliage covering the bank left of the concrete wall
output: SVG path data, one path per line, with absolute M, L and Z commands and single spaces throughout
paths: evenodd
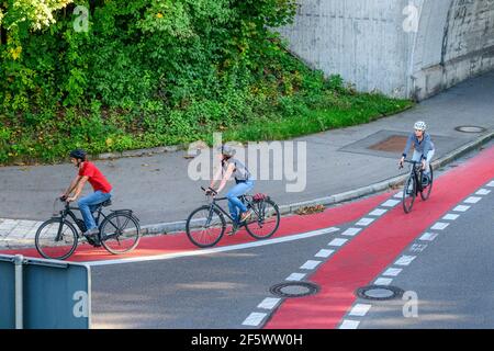
M 295 10 L 295 0 L 0 0 L 0 163 L 189 143 L 335 101 L 327 91 L 345 93 L 343 82 L 307 69 L 270 30 Z

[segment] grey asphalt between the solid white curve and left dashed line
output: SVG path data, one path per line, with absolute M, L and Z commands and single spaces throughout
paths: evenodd
M 334 235 L 232 252 L 92 268 L 94 328 L 246 328 L 269 288 Z

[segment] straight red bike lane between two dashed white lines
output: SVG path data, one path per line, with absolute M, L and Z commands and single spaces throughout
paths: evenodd
M 494 177 L 494 147 L 446 172 L 434 184 L 427 202 L 416 200 L 411 214 L 401 205 L 362 230 L 308 278 L 317 295 L 287 299 L 266 329 L 333 329 L 357 297 L 400 253 L 438 218 Z

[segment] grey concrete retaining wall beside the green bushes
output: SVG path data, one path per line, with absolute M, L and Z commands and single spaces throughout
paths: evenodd
M 494 0 L 300 0 L 289 48 L 358 90 L 422 100 L 494 68 Z

